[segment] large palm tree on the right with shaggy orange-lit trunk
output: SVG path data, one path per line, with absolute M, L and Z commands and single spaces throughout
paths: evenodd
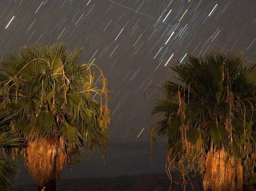
M 161 88 L 152 114 L 151 145 L 167 137 L 166 169 L 181 171 L 182 186 L 190 172 L 203 177 L 204 190 L 242 190 L 256 183 L 256 68 L 240 55 L 189 55 L 174 63 L 175 79 Z

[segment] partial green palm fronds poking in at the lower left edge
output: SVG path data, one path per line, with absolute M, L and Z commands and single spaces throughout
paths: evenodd
M 0 148 L 4 151 L 4 156 L 7 156 L 10 149 L 25 147 L 25 143 L 20 137 L 10 131 L 5 131 L 5 127 L 10 123 L 11 117 L 13 116 L 10 112 L 0 111 Z M 18 169 L 13 161 L 0 158 L 0 191 L 10 189 L 11 184 L 14 183 L 13 180 L 17 175 L 17 171 Z

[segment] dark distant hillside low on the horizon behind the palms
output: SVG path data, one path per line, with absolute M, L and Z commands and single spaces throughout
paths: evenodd
M 179 179 L 179 173 L 172 173 L 173 179 Z M 193 180 L 193 187 L 195 191 L 202 190 L 200 179 Z M 167 174 L 142 174 L 135 176 L 119 176 L 109 178 L 97 178 L 97 179 L 61 179 L 57 181 L 57 190 L 68 191 L 165 191 L 169 190 L 170 181 L 168 180 Z M 17 191 L 30 191 L 37 190 L 35 184 L 27 184 L 16 187 Z M 182 188 L 178 184 L 173 184 L 172 191 L 181 191 Z M 191 186 L 188 185 L 187 190 L 192 190 Z

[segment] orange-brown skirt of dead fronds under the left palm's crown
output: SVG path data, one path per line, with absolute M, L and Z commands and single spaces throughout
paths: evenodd
M 61 173 L 68 159 L 63 146 L 63 139 L 58 140 L 56 136 L 39 138 L 28 143 L 25 164 L 38 186 L 45 185 L 55 168 L 58 174 Z

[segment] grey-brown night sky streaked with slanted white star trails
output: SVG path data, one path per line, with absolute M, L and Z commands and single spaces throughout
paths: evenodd
M 82 156 L 64 178 L 106 177 L 164 171 L 159 139 L 150 158 L 154 99 L 174 61 L 210 50 L 242 52 L 255 61 L 255 0 L 2 0 L 0 54 L 36 43 L 66 42 L 84 48 L 82 63 L 96 63 L 112 101 L 106 165 L 97 152 Z M 99 80 L 95 79 L 95 85 Z M 97 99 L 97 97 L 95 97 Z M 139 135 L 140 134 L 140 135 Z M 138 137 L 139 135 L 139 137 Z M 138 138 L 137 138 L 138 137 Z M 22 162 L 17 184 L 31 183 Z

